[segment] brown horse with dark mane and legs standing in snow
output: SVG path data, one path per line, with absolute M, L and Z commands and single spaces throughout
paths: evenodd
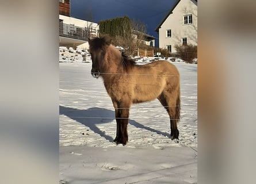
M 179 72 L 167 62 L 137 65 L 111 44 L 108 37 L 89 40 L 91 75 L 102 77 L 116 112 L 117 131 L 114 142 L 127 144 L 129 108 L 132 104 L 157 98 L 170 116 L 171 139 L 178 140 L 180 110 Z

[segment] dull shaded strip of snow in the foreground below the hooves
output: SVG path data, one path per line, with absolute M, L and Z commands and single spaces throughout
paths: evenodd
M 60 147 L 60 183 L 196 183 L 194 150 L 181 149 Z

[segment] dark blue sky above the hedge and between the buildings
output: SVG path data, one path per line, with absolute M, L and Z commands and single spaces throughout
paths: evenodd
M 146 24 L 147 33 L 158 38 L 155 28 L 176 0 L 71 0 L 71 17 L 99 22 L 128 16 Z M 158 47 L 158 39 L 156 40 Z

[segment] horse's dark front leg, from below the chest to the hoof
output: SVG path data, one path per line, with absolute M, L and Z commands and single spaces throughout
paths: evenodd
M 129 101 L 121 101 L 117 103 L 118 105 L 118 112 L 117 115 L 117 137 L 114 140 L 116 144 L 127 144 L 128 141 L 128 132 L 127 132 L 127 125 L 128 125 L 128 118 L 129 118 L 129 108 L 131 106 Z

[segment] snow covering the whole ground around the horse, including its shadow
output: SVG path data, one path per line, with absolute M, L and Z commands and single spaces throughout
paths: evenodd
M 197 65 L 167 60 L 181 75 L 179 143 L 170 139 L 169 116 L 156 99 L 132 106 L 123 146 L 113 143 L 114 108 L 102 79 L 90 74 L 90 55 L 60 48 L 60 183 L 197 182 Z

